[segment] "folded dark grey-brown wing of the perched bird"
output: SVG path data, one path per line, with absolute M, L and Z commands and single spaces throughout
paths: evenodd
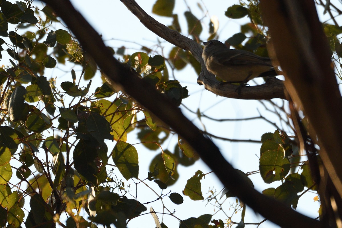
M 229 56 L 229 57 L 227 57 Z M 255 55 L 248 51 L 228 49 L 215 56 L 222 65 L 264 65 L 272 66 L 271 59 Z

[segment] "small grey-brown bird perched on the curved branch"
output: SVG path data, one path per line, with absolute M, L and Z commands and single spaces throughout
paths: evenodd
M 208 71 L 226 82 L 246 83 L 256 77 L 276 76 L 271 59 L 229 49 L 218 40 L 203 42 L 202 58 Z

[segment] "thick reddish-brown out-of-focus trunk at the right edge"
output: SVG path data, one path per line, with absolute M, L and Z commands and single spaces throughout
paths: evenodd
M 304 110 L 308 131 L 342 197 L 342 99 L 315 2 L 263 0 L 261 6 L 286 89 Z

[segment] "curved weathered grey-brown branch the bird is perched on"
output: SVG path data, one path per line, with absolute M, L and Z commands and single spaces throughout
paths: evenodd
M 202 70 L 198 76 L 198 84 L 205 85 L 210 92 L 223 97 L 237 99 L 285 99 L 284 87 L 280 80 L 268 81 L 263 85 L 250 86 L 241 90 L 239 95 L 236 91 L 237 86 L 232 84 L 222 84 L 218 82 L 212 74 L 208 72 L 202 59 L 202 47 L 197 42 L 189 39 L 179 32 L 172 30 L 165 25 L 157 22 L 148 15 L 134 0 L 120 0 L 137 17 L 140 22 L 149 30 L 156 33 L 159 37 L 169 43 L 178 46 L 186 51 L 190 51 L 196 60 L 201 64 Z

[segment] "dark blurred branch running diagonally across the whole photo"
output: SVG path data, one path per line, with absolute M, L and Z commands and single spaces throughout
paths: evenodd
M 327 227 L 322 222 L 304 216 L 279 201 L 268 198 L 252 188 L 241 178 L 231 164 L 221 155 L 211 140 L 204 137 L 165 96 L 140 77 L 122 66 L 105 46 L 100 35 L 84 17 L 74 9 L 69 0 L 44 0 L 63 19 L 78 38 L 82 48 L 95 60 L 98 67 L 124 91 L 167 123 L 184 138 L 215 172 L 221 182 L 253 210 L 282 227 Z M 279 214 L 279 212 L 281 212 Z

